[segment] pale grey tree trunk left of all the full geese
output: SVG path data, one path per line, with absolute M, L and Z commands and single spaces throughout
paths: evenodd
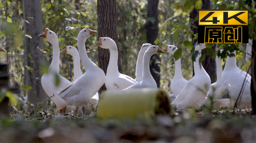
M 31 17 L 31 18 L 28 18 Z M 39 53 L 39 48 L 43 48 L 43 38 L 38 35 L 43 33 L 42 11 L 40 0 L 24 0 L 23 1 L 23 18 L 28 22 L 24 22 L 25 34 L 25 62 L 27 67 L 33 68 L 33 71 L 27 70 L 26 83 L 32 89 L 28 92 L 28 102 L 32 102 L 37 107 L 37 102 L 42 102 L 46 99 L 46 93 L 41 85 L 39 74 L 40 64 L 45 61 L 45 58 Z M 29 57 L 31 56 L 31 58 Z M 47 102 L 43 103 L 43 109 L 47 110 Z

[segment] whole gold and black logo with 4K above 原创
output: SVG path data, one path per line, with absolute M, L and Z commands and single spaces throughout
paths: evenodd
M 247 43 L 247 37 L 248 10 L 198 10 L 198 43 Z

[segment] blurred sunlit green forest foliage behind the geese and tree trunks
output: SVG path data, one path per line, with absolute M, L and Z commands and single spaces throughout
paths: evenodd
M 28 21 L 23 18 L 22 0 L 1 1 L 0 46 L 7 50 L 7 54 L 0 54 L 1 61 L 9 62 L 9 70 L 14 73 L 14 78 L 10 78 L 10 83 L 19 83 L 22 87 L 22 95 L 26 96 L 26 92 L 31 89 L 31 86 L 26 84 L 25 73 L 33 71 L 33 69 L 26 66 L 24 60 L 24 38 L 32 38 L 24 33 L 24 23 L 28 23 Z M 200 9 L 202 1 L 197 1 L 195 1 L 195 7 Z M 147 0 L 116 1 L 117 33 L 122 73 L 133 78 L 135 78 L 138 52 L 141 45 L 147 43 L 146 25 L 149 22 L 155 22 L 154 18 L 147 17 L 147 2 Z M 234 9 L 237 5 L 231 3 L 232 1 L 215 0 L 210 3 L 210 7 L 212 9 Z M 191 49 L 186 48 L 182 42 L 192 41 L 194 40 L 192 39 L 193 37 L 197 38 L 197 34 L 194 35 L 190 27 L 194 20 L 189 17 L 189 12 L 193 9 L 189 4 L 189 1 L 159 0 L 159 32 L 155 41 L 155 44 L 158 44 L 160 48 L 164 48 L 166 44 L 182 48 L 182 73 L 187 80 L 193 77 L 192 53 Z M 58 35 L 61 50 L 67 45 L 77 47 L 77 34 L 82 28 L 88 26 L 92 30 L 98 30 L 96 0 L 41 0 L 41 8 L 43 29 L 49 28 Z M 7 16 L 5 16 L 6 14 Z M 98 65 L 98 50 L 92 47 L 97 41 L 98 37 L 95 34 L 85 44 L 89 58 Z M 245 45 L 241 44 L 240 47 L 244 51 Z M 39 48 L 43 49 L 43 47 Z M 42 74 L 51 63 L 52 45 L 44 40 L 44 51 L 41 52 L 43 52 L 42 56 L 46 59 L 45 64 L 40 68 Z M 156 60 L 156 64 L 161 70 L 160 73 L 156 72 L 156 74 L 161 75 L 160 88 L 170 94 L 170 83 L 174 74 L 174 59 L 170 54 L 161 54 L 159 56 L 160 58 Z M 70 81 L 73 80 L 73 60 L 71 55 L 60 54 L 60 59 L 60 74 Z M 242 68 L 244 66 L 244 53 L 238 51 L 237 61 L 238 67 Z M 224 64 L 225 62 L 223 62 L 223 66 Z M 85 70 L 82 67 L 82 63 L 81 68 L 84 73 Z M 243 70 L 245 70 L 245 67 Z

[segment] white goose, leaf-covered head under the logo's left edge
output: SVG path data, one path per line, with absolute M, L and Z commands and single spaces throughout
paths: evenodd
M 177 109 L 186 108 L 199 108 L 204 102 L 205 96 L 211 85 L 211 79 L 209 75 L 199 65 L 199 58 L 201 57 L 202 49 L 206 48 L 205 44 L 196 45 L 195 52 L 198 51 L 196 61 L 194 62 L 195 76 L 184 86 L 180 94 L 174 99 L 171 105 Z

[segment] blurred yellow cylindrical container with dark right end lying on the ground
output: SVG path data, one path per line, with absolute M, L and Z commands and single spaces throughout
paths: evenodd
M 160 89 L 107 90 L 101 93 L 98 104 L 98 117 L 150 118 L 156 114 L 170 114 L 168 95 Z

